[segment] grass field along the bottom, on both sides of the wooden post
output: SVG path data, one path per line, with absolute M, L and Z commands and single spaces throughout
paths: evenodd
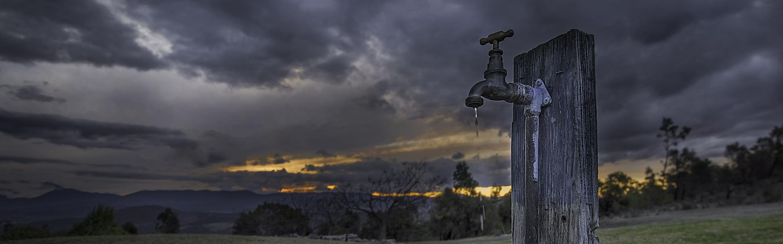
M 705 221 L 680 221 L 667 224 L 635 225 L 622 228 L 599 228 L 601 243 L 783 243 L 783 214 L 761 217 L 724 218 Z M 32 243 L 280 243 L 327 244 L 312 239 L 275 238 L 236 235 L 106 235 L 90 237 L 62 237 L 2 242 Z M 410 244 L 474 244 L 511 243 L 511 235 L 460 239 L 447 242 L 408 242 Z

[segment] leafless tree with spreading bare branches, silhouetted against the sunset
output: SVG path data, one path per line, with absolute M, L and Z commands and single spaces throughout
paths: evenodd
M 444 180 L 432 174 L 427 163 L 402 163 L 402 170 L 384 170 L 381 177 L 367 178 L 366 184 L 345 183 L 337 188 L 338 202 L 348 210 L 366 213 L 378 221 L 378 239 L 386 239 L 389 214 L 405 206 L 420 207 L 428 194 L 438 191 Z

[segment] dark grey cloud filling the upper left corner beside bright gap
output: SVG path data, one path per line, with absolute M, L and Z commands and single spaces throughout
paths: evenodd
M 137 33 L 96 1 L 0 2 L 0 59 L 88 63 L 139 70 L 164 67 Z

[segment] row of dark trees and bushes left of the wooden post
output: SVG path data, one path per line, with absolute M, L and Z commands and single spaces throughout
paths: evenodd
M 480 196 L 467 163 L 456 164 L 442 189 L 427 163 L 403 163 L 366 184 L 344 184 L 327 196 L 292 195 L 289 205 L 264 203 L 240 213 L 234 235 L 345 235 L 362 239 L 461 239 L 511 230 L 511 194 L 500 186 Z M 295 197 L 294 197 L 295 196 Z

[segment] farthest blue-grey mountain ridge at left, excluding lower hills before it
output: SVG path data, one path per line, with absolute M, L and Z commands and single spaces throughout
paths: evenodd
M 119 196 L 63 188 L 33 198 L 0 197 L 2 203 L 0 221 L 24 224 L 82 218 L 98 204 L 112 206 L 115 210 L 137 210 L 133 208 L 135 206 L 162 206 L 193 212 L 194 216 L 202 216 L 196 213 L 238 214 L 243 210 L 254 210 L 264 202 L 287 203 L 292 195 L 297 194 L 320 195 L 319 193 L 258 194 L 250 191 L 159 190 Z

